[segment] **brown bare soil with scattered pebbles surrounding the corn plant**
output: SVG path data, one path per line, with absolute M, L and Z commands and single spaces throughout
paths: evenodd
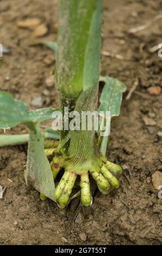
M 42 97 L 43 107 L 58 106 L 56 89 L 45 83 L 53 74 L 53 52 L 31 45 L 32 31 L 16 25 L 19 20 L 39 18 L 48 28 L 41 39 L 56 40 L 58 1 L 1 0 L 0 11 L 0 42 L 12 51 L 0 58 L 1 90 L 25 101 L 30 109 L 37 96 Z M 143 31 L 128 32 L 161 14 L 161 0 L 104 1 L 101 73 L 127 84 L 120 117 L 112 120 L 108 152 L 109 159 L 125 169 L 119 190 L 108 196 L 96 191 L 89 212 L 79 206 L 77 211 L 61 215 L 55 203 L 42 202 L 39 193 L 24 182 L 27 145 L 1 148 L 0 184 L 6 187 L 0 199 L 1 245 L 162 243 L 162 199 L 151 179 L 155 171 L 162 170 L 162 138 L 157 135 L 162 131 L 162 94 L 147 90 L 162 87 L 162 59 L 157 51 L 150 52 L 162 43 L 161 19 Z M 105 51 L 111 56 L 105 56 Z M 137 80 L 138 86 L 127 100 Z M 154 126 L 146 126 L 144 118 L 153 119 Z M 7 131 L 17 132 L 26 131 L 23 126 Z

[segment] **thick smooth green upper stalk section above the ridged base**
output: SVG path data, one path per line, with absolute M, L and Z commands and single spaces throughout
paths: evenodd
M 60 0 L 56 83 L 76 99 L 99 81 L 102 0 Z

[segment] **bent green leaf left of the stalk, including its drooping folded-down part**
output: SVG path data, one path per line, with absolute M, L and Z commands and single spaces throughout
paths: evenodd
M 28 112 L 25 103 L 15 100 L 9 93 L 0 93 L 0 127 L 8 129 L 16 124 L 24 123 L 30 129 L 29 138 L 28 136 L 26 138 L 26 141 L 29 139 L 29 143 L 27 170 L 24 172 L 25 180 L 27 184 L 31 184 L 36 190 L 52 200 L 54 198 L 52 170 L 44 152 L 44 136 L 39 130 L 39 124 L 36 123 L 52 119 L 54 111 L 53 108 L 45 108 Z M 48 136 L 47 133 L 49 135 L 49 131 L 45 132 L 46 136 Z M 18 137 L 18 139 L 21 140 L 22 137 Z

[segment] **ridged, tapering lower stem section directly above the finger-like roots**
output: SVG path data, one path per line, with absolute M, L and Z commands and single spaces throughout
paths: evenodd
M 98 85 L 87 89 L 83 92 L 76 103 L 76 111 L 81 115 L 82 111 L 96 111 L 97 109 Z M 96 135 L 94 129 L 94 120 L 92 120 L 92 130 L 88 130 L 88 121 L 86 121 L 86 129 L 82 130 L 82 122 L 79 131 L 71 132 L 70 147 L 68 154 L 67 170 L 71 170 L 73 166 L 82 173 L 96 165 L 99 159 L 99 151 L 96 144 Z M 80 169 L 80 170 L 79 170 Z

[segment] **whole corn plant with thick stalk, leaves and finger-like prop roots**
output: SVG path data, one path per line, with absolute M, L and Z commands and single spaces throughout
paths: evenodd
M 106 157 L 109 136 L 101 131 L 82 129 L 82 120 L 73 130 L 65 129 L 71 121 L 70 112 L 110 112 L 110 118 L 120 114 L 124 84 L 112 77 L 100 77 L 102 0 L 60 0 L 58 44 L 45 42 L 56 52 L 55 84 L 60 108 L 28 111 L 25 103 L 7 92 L 0 93 L 0 127 L 10 129 L 17 124 L 27 126 L 29 134 L 1 135 L 0 146 L 28 143 L 27 169 L 24 178 L 40 192 L 40 198 L 50 198 L 64 208 L 80 195 L 83 205 L 92 203 L 89 175 L 98 189 L 107 194 L 119 187 L 117 175 L 122 168 Z M 99 81 L 104 82 L 98 101 Z M 98 107 L 99 102 L 99 109 Z M 63 114 L 63 129 L 42 130 L 41 121 Z M 94 124 L 95 121 L 93 121 Z M 73 187 L 77 188 L 74 192 Z

